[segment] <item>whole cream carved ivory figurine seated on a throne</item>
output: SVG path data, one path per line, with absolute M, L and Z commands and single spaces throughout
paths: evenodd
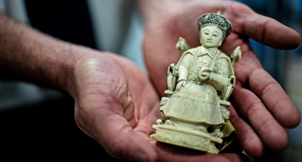
M 227 56 L 218 49 L 231 32 L 230 22 L 220 14 L 202 15 L 198 29 L 201 46 L 190 49 L 182 37 L 176 44 L 183 54 L 176 65 L 169 65 L 167 97 L 160 103 L 162 119 L 153 125 L 156 133 L 150 138 L 218 154 L 215 145 L 223 142 L 221 128 L 229 122 L 227 99 L 241 50 L 238 46 Z

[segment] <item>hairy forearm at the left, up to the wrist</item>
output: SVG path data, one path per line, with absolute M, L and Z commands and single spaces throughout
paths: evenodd
M 68 90 L 77 46 L 0 14 L 0 69 L 14 77 Z

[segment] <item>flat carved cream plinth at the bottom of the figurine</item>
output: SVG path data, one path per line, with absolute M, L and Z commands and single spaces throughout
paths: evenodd
M 150 135 L 151 139 L 185 148 L 218 154 L 215 144 L 222 143 L 220 138 L 192 129 L 163 124 L 153 125 L 152 128 L 156 129 L 156 133 Z

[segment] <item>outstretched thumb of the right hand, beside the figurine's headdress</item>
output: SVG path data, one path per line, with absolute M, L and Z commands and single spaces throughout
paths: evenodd
M 276 49 L 295 49 L 301 37 L 295 30 L 278 21 L 255 13 L 248 6 L 236 2 L 223 2 L 226 17 L 230 19 L 232 30 L 247 35 L 267 46 Z

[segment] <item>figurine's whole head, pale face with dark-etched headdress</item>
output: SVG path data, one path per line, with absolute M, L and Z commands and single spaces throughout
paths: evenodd
M 200 43 L 207 47 L 218 47 L 231 33 L 231 23 L 219 14 L 204 14 L 198 20 Z

